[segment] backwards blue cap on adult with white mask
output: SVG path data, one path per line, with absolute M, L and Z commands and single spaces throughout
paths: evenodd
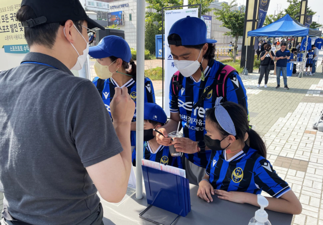
M 217 43 L 216 40 L 206 39 L 207 27 L 203 20 L 186 16 L 177 20 L 170 28 L 169 35 L 177 34 L 181 41 L 168 41 L 169 45 L 201 45 Z

